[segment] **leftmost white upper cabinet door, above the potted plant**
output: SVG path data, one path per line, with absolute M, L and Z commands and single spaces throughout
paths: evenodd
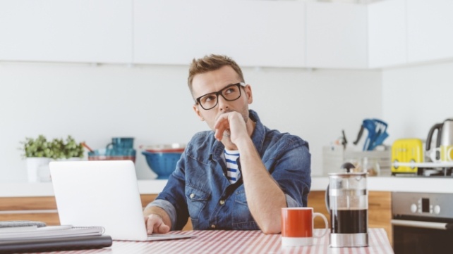
M 132 0 L 0 1 L 0 60 L 131 63 Z

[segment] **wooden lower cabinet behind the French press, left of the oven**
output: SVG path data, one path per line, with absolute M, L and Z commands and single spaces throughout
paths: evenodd
M 308 194 L 308 207 L 313 208 L 314 212 L 320 212 L 330 224 L 330 213 L 327 212 L 325 205 L 325 191 L 311 191 Z M 368 192 L 368 228 L 379 227 L 385 229 L 392 244 L 392 195 L 389 191 L 369 191 Z M 315 220 L 315 228 L 324 227 L 321 219 Z

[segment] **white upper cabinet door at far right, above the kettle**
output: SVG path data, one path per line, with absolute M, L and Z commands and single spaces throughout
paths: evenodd
M 407 1 L 409 62 L 453 57 L 453 1 Z

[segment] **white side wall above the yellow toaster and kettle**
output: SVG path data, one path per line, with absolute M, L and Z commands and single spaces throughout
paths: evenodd
M 453 118 L 453 61 L 382 71 L 382 117 L 389 142 L 425 140 L 430 127 Z

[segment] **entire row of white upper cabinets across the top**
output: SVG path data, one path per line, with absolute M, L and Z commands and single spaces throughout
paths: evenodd
M 387 68 L 453 58 L 453 0 L 0 0 L 0 61 Z

